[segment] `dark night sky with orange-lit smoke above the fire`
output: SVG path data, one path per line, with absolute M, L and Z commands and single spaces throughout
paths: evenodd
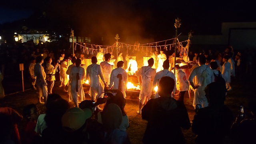
M 175 34 L 176 18 L 182 22 L 179 33 L 219 34 L 221 22 L 256 21 L 253 6 L 247 0 L 6 0 L 0 5 L 0 24 L 45 12 L 80 35 L 163 40 Z

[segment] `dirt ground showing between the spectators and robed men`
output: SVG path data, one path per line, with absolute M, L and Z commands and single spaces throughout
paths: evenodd
M 225 104 L 234 112 L 234 116 L 238 114 L 238 108 L 241 104 L 244 104 L 245 111 L 247 110 L 247 102 L 252 96 L 255 96 L 253 94 L 253 89 L 255 89 L 254 79 L 249 80 L 250 82 L 246 81 L 238 81 L 234 80 L 232 82 L 233 90 L 228 91 Z M 53 92 L 60 94 L 62 98 L 68 100 L 68 95 L 66 92 L 62 92 L 62 89 L 59 88 L 59 82 L 56 82 L 53 88 Z M 67 89 L 67 88 L 66 88 Z M 84 92 L 86 93 L 86 99 L 90 99 L 90 96 L 88 95 L 88 86 L 84 86 Z M 22 113 L 22 110 L 24 106 L 28 104 L 36 104 L 37 103 L 37 96 L 36 90 L 32 90 L 26 86 L 26 89 L 24 92 L 17 92 L 14 94 L 8 94 L 3 100 L 1 106 L 8 106 L 11 108 L 14 108 L 18 112 Z M 191 92 L 191 98 L 188 96 L 188 92 L 185 94 L 184 98 L 184 104 L 188 110 L 188 115 L 190 118 L 190 121 L 193 120 L 194 117 L 194 108 L 192 106 L 194 93 Z M 126 98 L 126 106 L 125 110 L 127 112 L 129 121 L 130 121 L 130 128 L 128 128 L 128 136 L 130 138 L 130 141 L 132 144 L 142 144 L 142 137 L 144 134 L 144 131 L 146 129 L 147 122 L 145 120 L 142 120 L 141 115 L 137 114 L 138 110 L 138 93 L 134 92 L 127 92 L 127 98 Z M 73 102 L 70 102 L 71 105 L 74 106 Z M 41 113 L 45 112 L 45 107 L 42 105 L 37 105 L 38 108 L 41 110 Z M 248 114 L 249 116 L 249 114 Z M 20 137 L 22 142 L 24 142 L 24 126 L 25 126 L 25 119 L 22 120 L 18 124 L 18 129 L 20 132 Z M 193 134 L 191 128 L 189 130 L 182 130 L 184 133 L 184 136 L 186 138 L 187 144 L 193 144 L 194 138 L 196 137 L 195 134 Z M 232 141 L 230 138 L 226 138 L 226 144 L 233 144 L 234 141 Z

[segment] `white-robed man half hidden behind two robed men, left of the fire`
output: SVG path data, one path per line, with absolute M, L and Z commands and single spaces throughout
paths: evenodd
M 107 86 L 110 84 L 110 74 L 112 72 L 112 66 L 109 64 L 111 59 L 111 54 L 107 53 L 104 55 L 105 61 L 100 63 L 100 67 L 102 68 L 102 73 L 105 79 L 105 82 L 107 83 Z

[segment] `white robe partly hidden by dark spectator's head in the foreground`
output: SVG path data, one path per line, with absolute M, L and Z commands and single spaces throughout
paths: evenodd
M 155 86 L 157 84 L 157 86 L 159 85 L 159 81 L 162 77 L 164 76 L 169 76 L 171 77 L 172 79 L 174 79 L 174 82 L 175 82 L 175 85 L 174 85 L 174 88 L 172 90 L 172 92 L 175 94 L 175 90 L 176 90 L 176 78 L 174 76 L 174 74 L 172 72 L 170 72 L 169 70 L 161 70 L 159 72 L 156 73 L 156 76 L 154 78 L 154 82 L 153 82 L 153 86 Z M 155 98 L 158 98 L 159 97 L 159 94 L 158 94 L 158 91 L 156 92 L 156 96 Z M 173 96 L 172 96 L 173 97 Z

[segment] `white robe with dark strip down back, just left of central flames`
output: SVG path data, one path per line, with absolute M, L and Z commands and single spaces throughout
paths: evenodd
M 113 89 L 114 90 L 118 90 L 118 85 L 119 85 L 119 78 L 117 78 L 117 75 L 118 74 L 122 74 L 122 93 L 124 94 L 124 98 L 126 97 L 126 93 L 125 93 L 125 87 L 126 87 L 126 84 L 128 82 L 128 79 L 127 79 L 127 72 L 119 67 L 119 68 L 115 68 L 114 70 L 112 70 L 111 74 L 110 74 L 110 85 L 109 85 L 109 88 L 113 86 Z

